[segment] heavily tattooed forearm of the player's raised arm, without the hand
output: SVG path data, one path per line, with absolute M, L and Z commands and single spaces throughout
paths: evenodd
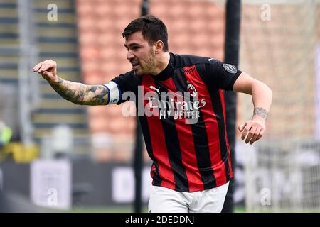
M 100 85 L 85 85 L 59 78 L 57 84 L 50 84 L 55 92 L 68 101 L 80 105 L 107 104 L 108 91 Z

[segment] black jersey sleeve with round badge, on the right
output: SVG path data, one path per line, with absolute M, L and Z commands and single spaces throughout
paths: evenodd
M 217 60 L 199 65 L 201 76 L 208 86 L 230 91 L 241 72 L 234 65 L 226 64 Z

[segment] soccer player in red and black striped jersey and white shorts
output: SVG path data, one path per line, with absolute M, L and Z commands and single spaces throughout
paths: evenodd
M 135 101 L 153 161 L 149 212 L 220 212 L 233 177 L 223 90 L 252 95 L 252 119 L 238 127 L 252 144 L 265 133 L 271 89 L 233 65 L 169 52 L 166 26 L 154 16 L 135 19 L 122 36 L 132 71 L 107 84 L 62 79 L 53 60 L 33 71 L 75 104 Z

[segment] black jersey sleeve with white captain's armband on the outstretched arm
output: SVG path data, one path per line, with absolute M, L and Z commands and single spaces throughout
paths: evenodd
M 107 104 L 121 104 L 127 99 L 122 99 L 124 92 L 134 92 L 137 90 L 137 78 L 134 73 L 127 72 L 120 74 L 118 77 L 114 77 L 109 84 L 105 84 L 105 87 L 109 90 L 110 98 Z

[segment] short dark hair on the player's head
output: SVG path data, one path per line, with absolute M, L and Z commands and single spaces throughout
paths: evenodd
M 142 31 L 144 39 L 148 40 L 151 45 L 161 40 L 164 42 L 164 52 L 169 50 L 166 25 L 159 18 L 153 15 L 146 15 L 134 19 L 124 28 L 122 37 L 127 38 L 136 31 Z

